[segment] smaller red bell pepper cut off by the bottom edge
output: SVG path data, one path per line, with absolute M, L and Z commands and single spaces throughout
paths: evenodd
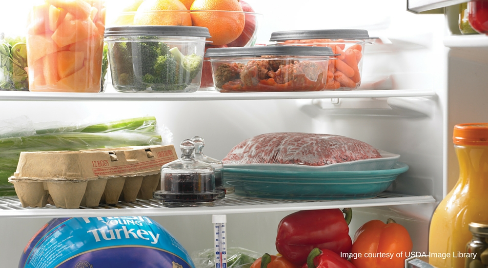
M 356 268 L 352 263 L 328 249 L 312 249 L 302 268 Z

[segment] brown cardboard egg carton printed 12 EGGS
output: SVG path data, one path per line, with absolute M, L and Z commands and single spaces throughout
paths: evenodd
M 152 198 L 161 167 L 176 159 L 173 145 L 22 152 L 9 182 L 23 207 L 44 207 L 50 200 L 65 209 L 134 202 Z

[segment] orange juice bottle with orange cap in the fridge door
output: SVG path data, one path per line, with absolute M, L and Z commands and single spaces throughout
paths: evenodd
M 464 268 L 469 223 L 488 223 L 488 123 L 454 126 L 453 141 L 459 180 L 430 222 L 429 263 L 438 268 Z

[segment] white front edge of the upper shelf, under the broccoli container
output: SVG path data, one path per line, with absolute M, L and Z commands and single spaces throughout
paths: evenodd
M 412 97 L 434 96 L 429 90 L 353 90 L 319 92 L 249 92 L 219 93 L 197 91 L 195 93 L 54 93 L 0 91 L 0 101 L 181 101 L 181 100 L 247 100 L 247 99 L 317 99 L 360 97 Z

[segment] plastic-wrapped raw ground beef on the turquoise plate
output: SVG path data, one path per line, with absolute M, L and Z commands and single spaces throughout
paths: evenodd
M 244 140 L 222 160 L 224 164 L 295 164 L 325 166 L 381 158 L 371 145 L 344 136 L 268 133 Z

